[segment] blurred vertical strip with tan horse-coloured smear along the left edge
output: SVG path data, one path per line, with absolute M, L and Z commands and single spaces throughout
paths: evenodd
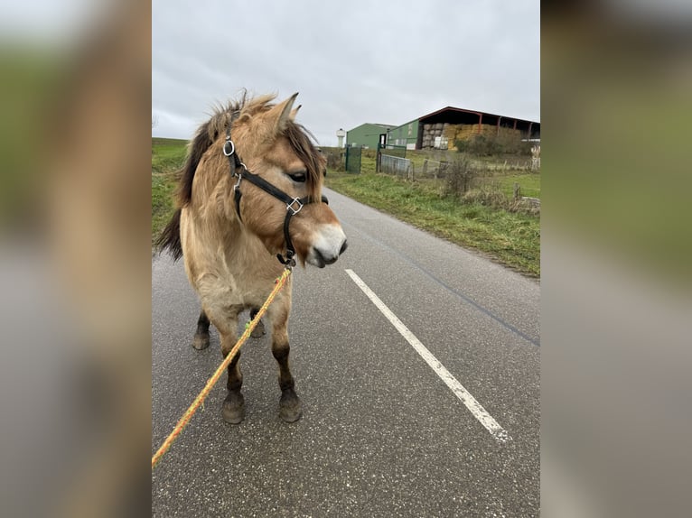
M 151 11 L 0 12 L 0 501 L 149 513 Z

